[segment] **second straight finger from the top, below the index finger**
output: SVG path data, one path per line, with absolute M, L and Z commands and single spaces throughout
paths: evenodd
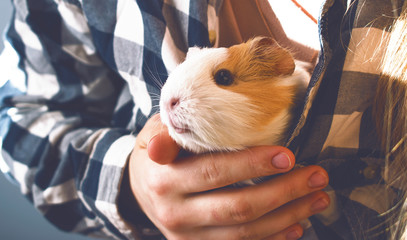
M 178 212 L 176 217 L 180 219 L 179 225 L 191 227 L 241 224 L 319 191 L 327 184 L 327 174 L 321 167 L 305 167 L 255 186 L 188 196 L 183 207 L 194 211 Z

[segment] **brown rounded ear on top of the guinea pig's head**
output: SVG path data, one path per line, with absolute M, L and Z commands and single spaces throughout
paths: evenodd
M 295 69 L 294 58 L 290 52 L 282 48 L 269 37 L 256 37 L 251 40 L 251 50 L 256 60 L 268 64 L 277 75 L 291 75 Z

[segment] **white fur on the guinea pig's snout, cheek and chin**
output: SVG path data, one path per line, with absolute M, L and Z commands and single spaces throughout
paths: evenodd
M 213 80 L 216 66 L 227 58 L 227 54 L 226 48 L 194 48 L 186 61 L 170 74 L 160 99 L 161 119 L 168 126 L 170 136 L 185 149 L 197 153 L 279 144 L 281 134 L 291 120 L 289 109 L 268 126 L 253 130 L 248 116 L 258 115 L 261 107 L 251 104 L 242 94 L 220 88 Z M 301 85 L 305 89 L 305 72 L 297 67 L 294 74 L 281 78 L 281 82 Z M 171 99 L 180 100 L 173 109 Z M 188 131 L 177 132 L 171 122 Z

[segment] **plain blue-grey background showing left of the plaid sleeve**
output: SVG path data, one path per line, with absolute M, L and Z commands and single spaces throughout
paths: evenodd
M 0 0 L 0 52 L 4 48 L 4 29 L 11 17 L 11 1 Z M 51 225 L 20 194 L 19 188 L 11 184 L 0 172 L 0 239 L 4 240 L 90 240 L 78 234 L 61 232 Z

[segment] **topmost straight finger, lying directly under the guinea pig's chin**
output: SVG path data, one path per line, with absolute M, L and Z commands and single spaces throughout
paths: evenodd
M 174 174 L 174 181 L 180 183 L 180 190 L 196 193 L 287 172 L 294 166 L 294 162 L 295 157 L 287 148 L 261 146 L 239 152 L 209 153 L 186 158 L 177 162 L 172 170 L 179 172 Z

